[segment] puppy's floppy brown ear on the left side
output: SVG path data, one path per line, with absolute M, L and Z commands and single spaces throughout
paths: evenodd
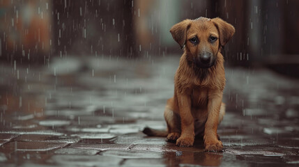
M 178 45 L 180 45 L 181 49 L 185 45 L 186 32 L 187 29 L 189 29 L 190 25 L 191 25 L 191 19 L 185 19 L 183 22 L 179 22 L 178 24 L 175 24 L 170 29 L 170 33 L 172 37 L 176 42 L 178 42 Z

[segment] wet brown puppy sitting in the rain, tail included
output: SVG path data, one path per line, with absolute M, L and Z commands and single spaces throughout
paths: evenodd
M 167 100 L 164 118 L 167 131 L 144 128 L 148 136 L 167 136 L 167 141 L 191 147 L 196 135 L 204 137 L 207 152 L 221 152 L 217 126 L 225 113 L 222 48 L 235 33 L 234 27 L 216 17 L 185 19 L 171 27 L 183 55 L 174 77 L 174 97 Z

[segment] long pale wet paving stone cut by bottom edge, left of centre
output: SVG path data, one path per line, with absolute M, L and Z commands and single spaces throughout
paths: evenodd
M 57 154 L 47 162 L 62 166 L 118 166 L 123 159 L 118 157 L 107 157 L 102 155 L 69 155 Z

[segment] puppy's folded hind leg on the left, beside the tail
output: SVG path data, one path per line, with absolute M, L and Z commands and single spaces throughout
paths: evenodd
M 164 118 L 167 122 L 169 133 L 167 141 L 175 143 L 176 139 L 181 136 L 181 119 L 178 113 L 174 113 L 173 105 L 173 98 L 171 98 L 167 101 L 167 105 L 165 106 Z

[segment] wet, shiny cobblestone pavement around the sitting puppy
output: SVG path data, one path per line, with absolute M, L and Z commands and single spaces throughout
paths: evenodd
M 299 81 L 226 69 L 224 152 L 141 133 L 166 128 L 178 56 L 1 64 L 0 166 L 298 166 Z

